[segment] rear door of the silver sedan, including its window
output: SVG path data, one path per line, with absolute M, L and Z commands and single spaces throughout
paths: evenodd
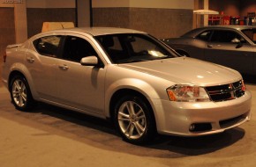
M 55 101 L 56 60 L 59 54 L 62 36 L 49 35 L 33 41 L 26 53 L 26 67 L 30 71 L 33 87 L 40 96 Z

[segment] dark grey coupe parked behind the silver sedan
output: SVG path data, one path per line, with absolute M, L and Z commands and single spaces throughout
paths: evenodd
M 180 38 L 162 41 L 178 54 L 256 75 L 256 26 L 206 26 L 184 33 Z

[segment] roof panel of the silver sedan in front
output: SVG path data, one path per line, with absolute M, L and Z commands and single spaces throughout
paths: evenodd
M 106 35 L 106 34 L 116 34 L 116 33 L 144 33 L 137 30 L 126 29 L 126 28 L 117 28 L 117 27 L 79 27 L 79 28 L 70 28 L 70 29 L 60 29 L 53 30 L 47 33 L 89 33 L 92 36 Z M 44 34 L 44 33 L 40 33 Z

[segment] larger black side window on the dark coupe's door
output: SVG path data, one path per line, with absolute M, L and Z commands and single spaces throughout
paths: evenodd
M 234 39 L 244 40 L 241 35 L 233 31 L 217 30 L 213 33 L 211 41 L 214 42 L 230 42 Z

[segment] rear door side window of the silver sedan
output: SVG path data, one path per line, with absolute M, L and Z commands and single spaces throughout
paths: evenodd
M 56 57 L 61 36 L 47 36 L 34 40 L 33 44 L 39 54 Z

